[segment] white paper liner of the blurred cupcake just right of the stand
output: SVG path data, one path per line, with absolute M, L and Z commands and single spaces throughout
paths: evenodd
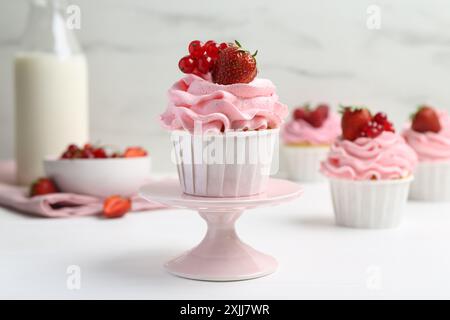
M 320 173 L 320 162 L 330 150 L 328 146 L 284 146 L 288 178 L 299 182 L 321 182 L 326 178 Z

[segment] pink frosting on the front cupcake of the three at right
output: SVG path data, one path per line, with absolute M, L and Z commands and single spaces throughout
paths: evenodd
M 405 140 L 393 132 L 355 141 L 337 139 L 321 171 L 332 178 L 386 180 L 412 174 L 417 155 Z

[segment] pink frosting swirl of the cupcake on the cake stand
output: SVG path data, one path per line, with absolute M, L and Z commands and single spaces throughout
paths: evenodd
M 169 89 L 169 104 L 161 115 L 170 130 L 203 131 L 261 130 L 279 128 L 288 114 L 278 101 L 270 80 L 220 85 L 188 75 Z

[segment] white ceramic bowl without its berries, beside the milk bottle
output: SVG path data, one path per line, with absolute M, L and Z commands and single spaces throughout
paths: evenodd
M 96 197 L 137 194 L 150 176 L 150 157 L 44 160 L 44 171 L 62 192 Z

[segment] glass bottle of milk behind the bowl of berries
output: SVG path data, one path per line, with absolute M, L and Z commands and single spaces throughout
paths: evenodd
M 87 63 L 63 0 L 32 0 L 15 57 L 17 182 L 43 176 L 42 160 L 88 141 Z

